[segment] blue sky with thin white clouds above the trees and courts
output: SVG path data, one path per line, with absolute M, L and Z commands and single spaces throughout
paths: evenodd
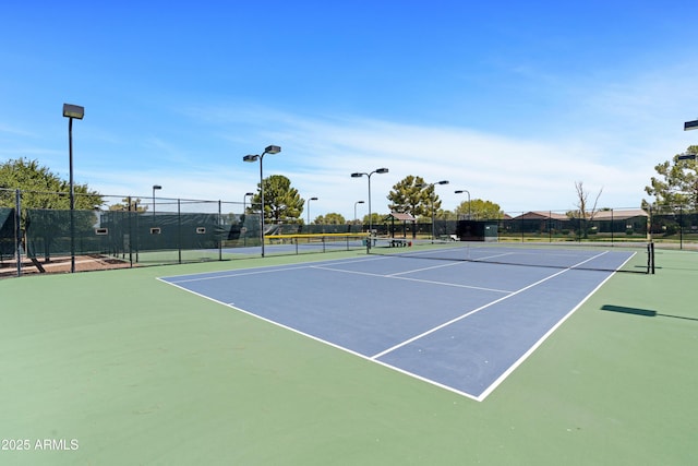
M 242 202 L 285 175 L 312 217 L 373 211 L 408 175 L 507 212 L 638 207 L 698 144 L 698 3 L 26 0 L 2 7 L 0 160 L 104 194 Z M 358 214 L 366 213 L 360 205 Z M 305 218 L 305 213 L 303 214 Z

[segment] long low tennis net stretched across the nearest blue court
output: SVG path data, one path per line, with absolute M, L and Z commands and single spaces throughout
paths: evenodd
M 369 254 L 531 267 L 654 273 L 653 243 L 515 243 L 371 238 Z

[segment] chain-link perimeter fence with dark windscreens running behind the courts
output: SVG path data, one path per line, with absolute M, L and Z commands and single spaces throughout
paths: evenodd
M 75 193 L 75 205 L 71 215 L 68 192 L 0 189 L 0 277 L 69 272 L 73 254 L 76 272 L 260 255 L 260 216 L 249 203 Z M 95 208 L 81 208 L 85 205 Z M 268 219 L 265 243 L 267 254 L 299 254 L 365 250 L 370 234 L 411 239 L 433 234 L 457 240 L 652 241 L 658 248 L 698 248 L 698 212 L 681 205 L 660 212 L 609 208 L 586 217 L 530 211 L 506 213 L 502 218 L 436 219 L 432 228 L 431 223 L 386 216 L 373 224 L 371 232 L 368 225 L 357 223 L 304 225 Z M 489 237 L 473 234 L 485 227 Z

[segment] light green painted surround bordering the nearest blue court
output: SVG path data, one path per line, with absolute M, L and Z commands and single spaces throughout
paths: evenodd
M 293 261 L 0 280 L 0 464 L 698 464 L 698 253 L 613 276 L 482 403 L 156 279 Z

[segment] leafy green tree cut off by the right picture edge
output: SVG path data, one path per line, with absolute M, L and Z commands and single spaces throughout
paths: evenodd
M 687 154 L 698 154 L 698 145 L 686 150 Z M 652 177 L 645 192 L 654 196 L 654 202 L 642 200 L 642 208 L 655 211 L 671 210 L 683 205 L 687 210 L 698 210 L 698 160 L 679 160 L 678 154 L 654 167 L 660 177 Z

